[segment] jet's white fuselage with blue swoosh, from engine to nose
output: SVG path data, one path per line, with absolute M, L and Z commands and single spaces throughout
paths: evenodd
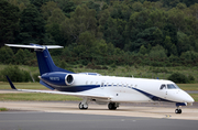
M 90 86 L 89 89 L 78 91 L 82 94 L 96 94 L 111 97 L 114 102 L 150 102 L 173 101 L 194 102 L 194 99 L 184 90 L 177 88 L 161 89 L 162 85 L 175 85 L 170 80 L 144 79 L 113 76 L 92 76 L 84 74 L 72 74 L 74 76 L 73 87 Z

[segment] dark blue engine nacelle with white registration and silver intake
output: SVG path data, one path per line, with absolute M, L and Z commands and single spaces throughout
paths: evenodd
M 41 79 L 54 87 L 69 86 L 74 84 L 74 76 L 68 73 L 46 73 Z

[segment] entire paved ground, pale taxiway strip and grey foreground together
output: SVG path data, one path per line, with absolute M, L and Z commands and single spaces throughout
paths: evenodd
M 118 110 L 77 101 L 0 101 L 0 130 L 197 130 L 198 105 L 174 112 L 173 104 L 123 104 Z

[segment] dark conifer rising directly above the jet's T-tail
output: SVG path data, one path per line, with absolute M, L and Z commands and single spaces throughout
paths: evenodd
M 44 44 L 45 22 L 33 4 L 22 11 L 18 42 L 23 44 Z

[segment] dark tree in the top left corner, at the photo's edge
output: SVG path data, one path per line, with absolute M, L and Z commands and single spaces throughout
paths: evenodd
M 0 46 L 13 43 L 19 31 L 19 8 L 0 0 Z

